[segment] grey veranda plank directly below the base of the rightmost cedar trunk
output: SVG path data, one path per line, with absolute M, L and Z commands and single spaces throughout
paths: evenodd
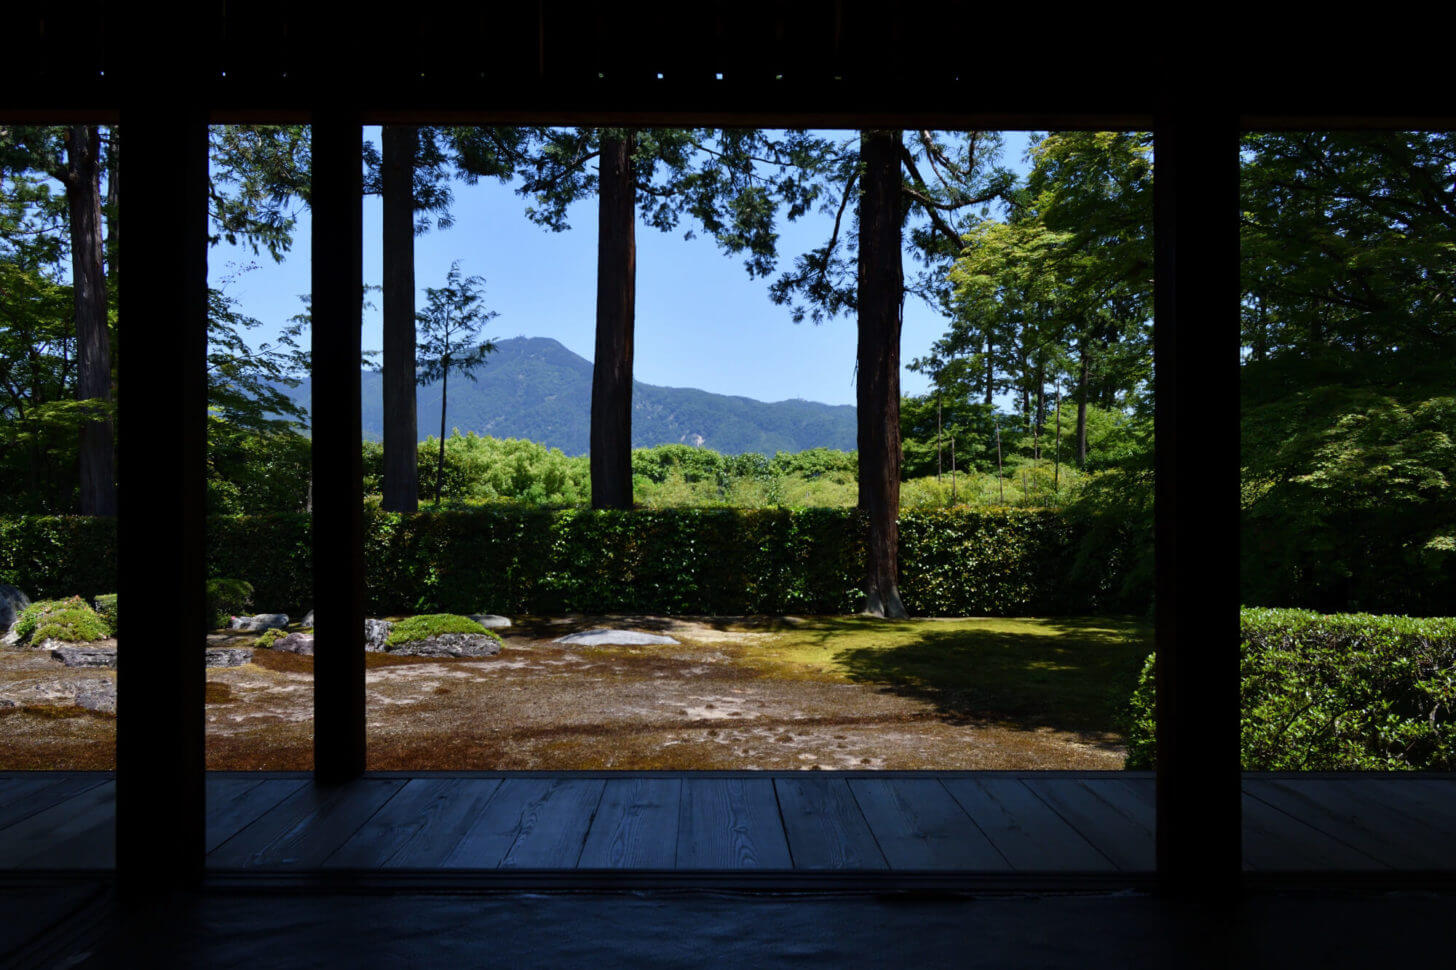
M 855 778 L 849 788 L 891 870 L 1010 868 L 935 778 Z

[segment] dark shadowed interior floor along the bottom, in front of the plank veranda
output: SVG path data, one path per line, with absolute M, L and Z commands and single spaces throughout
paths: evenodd
M 111 890 L 0 891 L 15 967 L 1449 966 L 1456 896 L 282 894 L 122 909 Z M 19 939 L 19 928 L 41 938 Z M 1433 963 L 1434 961 L 1434 963 Z

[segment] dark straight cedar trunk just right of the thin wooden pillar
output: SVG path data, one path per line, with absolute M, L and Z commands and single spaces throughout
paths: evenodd
M 415 414 L 415 150 L 412 125 L 384 125 L 384 511 L 419 510 Z

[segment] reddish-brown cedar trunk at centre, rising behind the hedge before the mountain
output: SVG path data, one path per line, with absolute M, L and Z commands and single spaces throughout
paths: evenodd
M 632 326 L 636 137 L 601 138 L 597 352 L 591 370 L 591 507 L 632 508 Z

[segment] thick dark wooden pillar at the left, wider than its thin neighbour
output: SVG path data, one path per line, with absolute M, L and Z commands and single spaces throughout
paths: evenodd
M 118 632 L 116 871 L 131 887 L 173 888 L 201 878 L 204 853 L 207 118 L 140 82 L 131 90 L 116 574 L 132 613 Z M 165 604 L 165 623 L 146 622 L 147 603 Z

